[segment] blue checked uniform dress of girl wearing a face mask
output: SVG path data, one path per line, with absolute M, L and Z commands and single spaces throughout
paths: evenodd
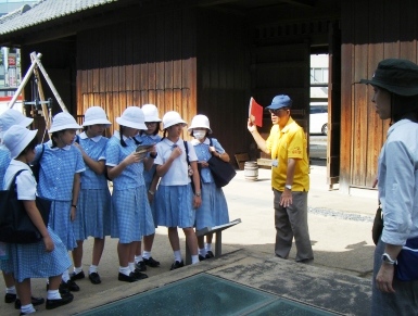
M 207 162 L 212 157 L 208 152 L 210 140 L 207 138 L 203 143 L 195 139 L 191 143 L 200 162 Z M 215 138 L 212 138 L 212 144 L 217 152 L 225 152 Z M 197 230 L 229 223 L 227 200 L 223 189 L 216 187 L 211 169 L 202 168 L 200 175 L 202 179 L 202 204 L 195 212 Z

